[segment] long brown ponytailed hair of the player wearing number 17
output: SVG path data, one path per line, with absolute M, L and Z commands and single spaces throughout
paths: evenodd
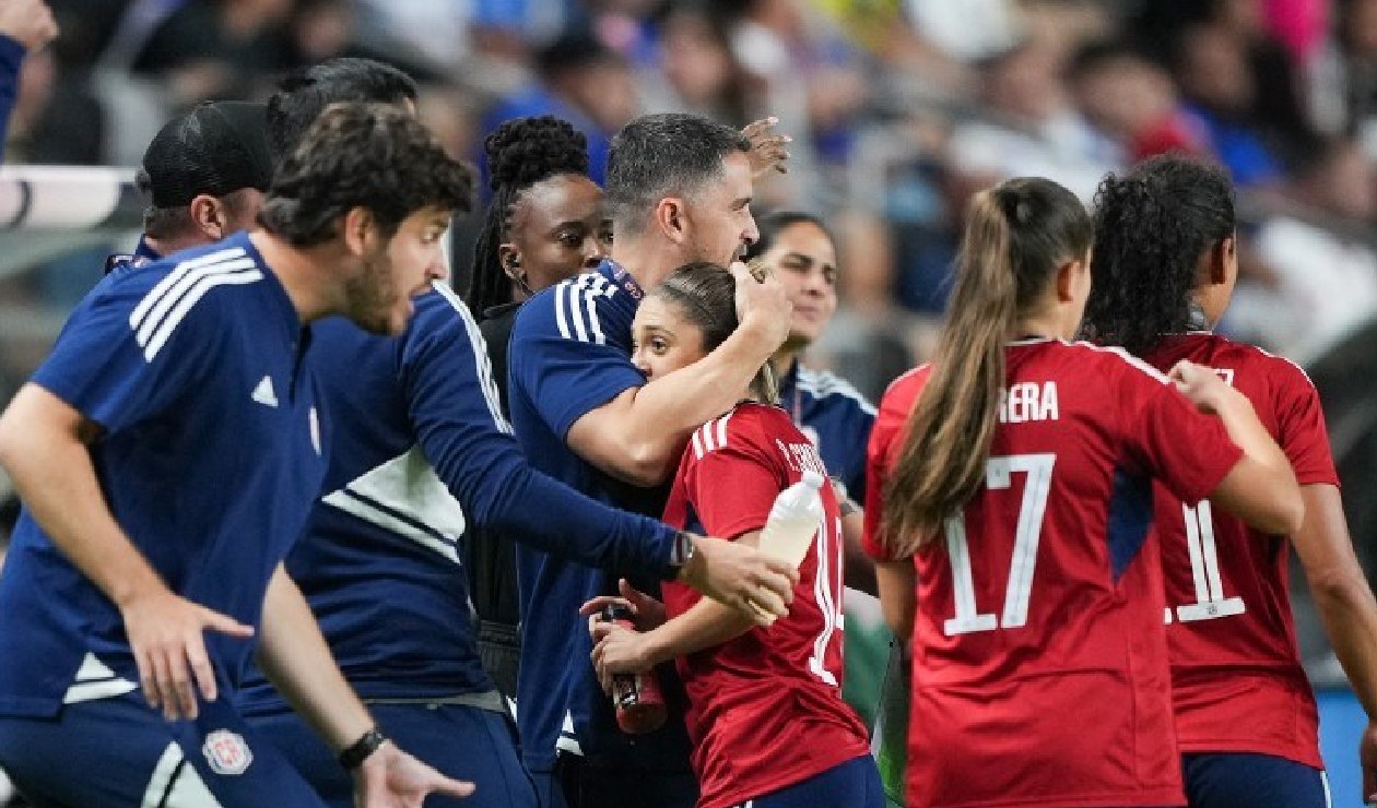
M 1084 260 L 1091 237 L 1080 200 L 1047 179 L 1012 179 L 971 200 L 932 373 L 884 490 L 881 533 L 892 557 L 932 541 L 985 482 L 1004 345 L 1058 267 Z

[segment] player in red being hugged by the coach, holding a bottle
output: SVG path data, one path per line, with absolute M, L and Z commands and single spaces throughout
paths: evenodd
M 657 379 L 708 355 L 737 328 L 734 295 L 731 274 L 719 266 L 677 270 L 636 311 L 636 365 Z M 741 398 L 694 434 L 665 522 L 701 523 L 755 545 L 775 496 L 804 471 L 826 471 L 789 413 L 772 406 L 768 368 Z M 841 701 L 843 548 L 832 486 L 823 486 L 822 501 L 825 518 L 799 568 L 793 607 L 771 628 L 752 629 L 673 585 L 664 588 L 671 619 L 658 628 L 595 626 L 602 640 L 593 661 L 605 679 L 677 659 L 702 789 L 698 808 L 884 805 L 866 727 Z M 643 615 L 657 611 L 647 597 L 627 593 Z

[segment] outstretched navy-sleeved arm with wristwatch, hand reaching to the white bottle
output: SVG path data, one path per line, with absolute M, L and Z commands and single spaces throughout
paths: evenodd
M 449 306 L 437 297 L 417 311 L 401 376 L 421 450 L 470 523 L 585 566 L 677 580 L 750 615 L 748 602 L 785 613 L 797 581 L 788 564 L 618 511 L 533 469 L 486 383 L 472 315 L 452 292 L 439 296 Z

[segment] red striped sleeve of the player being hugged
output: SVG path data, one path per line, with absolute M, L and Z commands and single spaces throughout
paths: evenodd
M 784 457 L 749 416 L 704 424 L 686 457 L 684 491 L 709 535 L 734 540 L 760 530 L 789 486 Z

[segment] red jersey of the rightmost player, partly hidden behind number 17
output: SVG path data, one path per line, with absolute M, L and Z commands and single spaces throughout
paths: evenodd
M 1208 333 L 1169 337 L 1147 361 L 1215 368 L 1253 402 L 1300 485 L 1338 485 L 1319 395 L 1305 373 Z M 1253 752 L 1322 768 L 1315 695 L 1300 666 L 1287 540 L 1208 501 L 1158 491 L 1168 646 L 1181 752 Z

